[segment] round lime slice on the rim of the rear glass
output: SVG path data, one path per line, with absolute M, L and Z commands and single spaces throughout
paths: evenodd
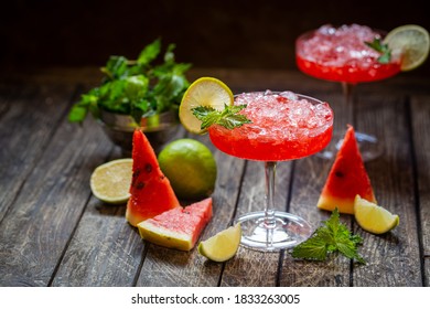
M 420 66 L 429 55 L 429 32 L 417 24 L 400 25 L 391 30 L 384 39 L 393 55 L 401 55 L 401 71 L 410 71 Z

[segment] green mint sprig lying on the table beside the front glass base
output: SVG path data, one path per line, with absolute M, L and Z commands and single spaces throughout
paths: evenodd
M 346 225 L 341 223 L 338 219 L 340 214 L 335 209 L 330 219 L 323 221 L 323 225 L 309 239 L 292 249 L 292 257 L 326 260 L 329 254 L 341 253 L 347 258 L 366 264 L 357 251 L 357 246 L 363 244 L 363 238 L 359 235 L 351 234 Z

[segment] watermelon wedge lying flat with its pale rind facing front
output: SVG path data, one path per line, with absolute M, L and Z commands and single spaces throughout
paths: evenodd
M 175 207 L 138 224 L 140 236 L 153 244 L 191 251 L 212 217 L 212 198 Z

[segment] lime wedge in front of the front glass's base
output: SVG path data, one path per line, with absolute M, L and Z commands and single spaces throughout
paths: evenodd
M 240 223 L 224 230 L 198 244 L 198 253 L 214 262 L 225 262 L 235 256 L 241 237 Z

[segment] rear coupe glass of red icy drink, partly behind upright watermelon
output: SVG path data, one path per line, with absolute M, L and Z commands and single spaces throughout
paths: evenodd
M 400 72 L 400 55 L 391 55 L 389 63 L 378 61 L 381 55 L 365 42 L 383 40 L 383 32 L 365 25 L 351 24 L 334 28 L 322 25 L 300 35 L 295 41 L 295 61 L 303 73 L 313 77 L 340 82 L 346 104 L 347 122 L 353 125 L 353 89 L 358 83 L 376 82 Z M 357 142 L 365 161 L 377 158 L 383 149 L 377 138 L 356 132 Z M 337 139 L 322 154 L 333 158 Z

